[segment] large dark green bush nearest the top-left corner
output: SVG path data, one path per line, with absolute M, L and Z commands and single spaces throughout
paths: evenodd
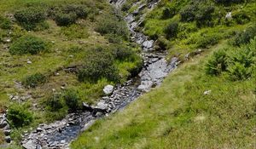
M 23 26 L 26 30 L 33 30 L 38 23 L 46 20 L 46 13 L 44 9 L 29 7 L 15 12 L 15 19 L 20 26 Z

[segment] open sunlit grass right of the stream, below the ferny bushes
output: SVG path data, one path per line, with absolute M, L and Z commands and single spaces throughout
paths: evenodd
M 204 70 L 209 54 L 184 63 L 124 111 L 98 120 L 72 148 L 255 147 L 255 77 L 244 82 L 209 77 Z M 203 95 L 206 90 L 211 94 Z

